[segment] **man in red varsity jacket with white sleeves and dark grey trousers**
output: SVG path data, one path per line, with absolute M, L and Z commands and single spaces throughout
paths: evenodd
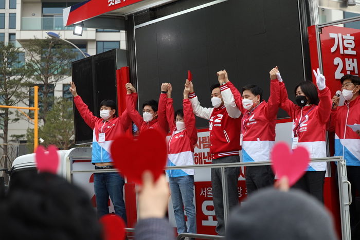
M 218 72 L 218 84 L 211 87 L 211 108 L 202 107 L 190 82 L 189 99 L 195 116 L 209 120 L 210 154 L 212 163 L 240 162 L 240 115 L 241 112 L 225 83 L 226 71 Z M 231 209 L 239 204 L 238 178 L 240 169 L 226 168 L 228 205 Z M 225 235 L 224 203 L 220 168 L 211 169 L 211 186 L 215 215 L 218 220 L 215 231 Z

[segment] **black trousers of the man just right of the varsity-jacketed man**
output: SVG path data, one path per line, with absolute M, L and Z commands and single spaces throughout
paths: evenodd
M 271 166 L 246 167 L 246 192 L 247 195 L 268 186 L 274 185 L 274 173 Z

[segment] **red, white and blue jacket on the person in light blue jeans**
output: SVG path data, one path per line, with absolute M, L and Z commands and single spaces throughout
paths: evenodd
M 168 142 L 168 166 L 181 166 L 194 164 L 194 145 L 197 142 L 197 128 L 195 116 L 189 99 L 183 100 L 185 128 L 177 130 L 174 119 L 172 98 L 168 98 L 166 117 L 169 123 L 171 137 Z M 166 170 L 169 177 L 182 177 L 194 175 L 193 169 Z

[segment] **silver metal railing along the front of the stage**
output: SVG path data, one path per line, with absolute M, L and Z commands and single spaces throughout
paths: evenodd
M 84 160 L 81 157 L 68 157 L 67 164 L 67 179 L 71 181 L 71 176 L 75 173 L 104 173 L 104 172 L 117 172 L 116 169 L 103 169 L 103 170 L 71 170 L 71 161 L 73 160 Z M 337 172 L 338 172 L 338 186 L 339 186 L 339 202 L 340 202 L 340 216 L 341 216 L 341 233 L 343 240 L 350 240 L 350 214 L 349 214 L 349 205 L 351 204 L 351 184 L 347 179 L 346 173 L 346 162 L 343 157 L 325 157 L 325 158 L 313 158 L 311 162 L 337 162 Z M 203 165 L 185 165 L 185 166 L 172 166 L 167 167 L 166 170 L 175 170 L 175 169 L 204 169 L 204 168 L 220 168 L 221 169 L 221 179 L 222 179 L 222 191 L 223 191 L 223 204 L 224 204 L 224 225 L 225 229 L 228 225 L 228 216 L 229 216 L 229 206 L 228 202 L 228 192 L 227 192 L 227 178 L 225 177 L 225 168 L 231 167 L 252 167 L 252 166 L 261 166 L 261 165 L 271 165 L 270 161 L 259 161 L 259 162 L 236 162 L 236 163 L 217 163 L 217 164 L 203 164 Z M 136 195 L 136 202 L 137 200 Z M 137 206 L 138 213 L 138 206 Z M 200 234 L 206 237 L 205 239 L 223 239 L 216 238 L 218 235 L 206 235 Z M 186 235 L 181 235 L 182 239 L 184 237 L 198 237 L 197 234 L 186 233 Z

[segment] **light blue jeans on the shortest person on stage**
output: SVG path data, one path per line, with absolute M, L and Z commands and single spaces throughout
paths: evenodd
M 194 175 L 169 177 L 169 184 L 177 233 L 196 233 L 196 211 L 193 201 Z M 188 218 L 188 227 L 186 227 L 183 206 Z

